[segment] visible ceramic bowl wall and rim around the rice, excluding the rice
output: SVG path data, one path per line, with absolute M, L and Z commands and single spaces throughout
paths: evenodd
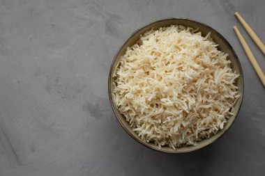
M 157 145 L 154 145 L 153 143 L 146 143 L 142 141 L 142 139 L 139 138 L 139 136 L 137 136 L 135 131 L 132 131 L 128 122 L 126 122 L 125 118 L 123 118 L 123 115 L 119 113 L 119 110 L 116 109 L 116 105 L 114 104 L 113 97 L 112 97 L 112 90 L 113 90 L 112 83 L 114 82 L 112 75 L 114 74 L 116 70 L 117 64 L 119 63 L 119 59 L 121 58 L 121 56 L 123 56 L 127 47 L 135 45 L 137 40 L 139 40 L 140 35 L 143 34 L 145 31 L 149 31 L 152 28 L 156 30 L 162 26 L 170 26 L 171 24 L 190 26 L 193 29 L 199 28 L 199 31 L 202 32 L 203 36 L 211 32 L 211 38 L 213 38 L 213 40 L 219 45 L 218 49 L 229 54 L 228 59 L 232 62 L 231 63 L 232 70 L 235 71 L 237 74 L 240 74 L 239 79 L 236 79 L 236 86 L 239 87 L 239 94 L 241 95 L 239 100 L 234 105 L 234 111 L 233 111 L 234 115 L 232 115 L 232 117 L 229 118 L 229 120 L 227 121 L 227 124 L 222 130 L 218 131 L 218 133 L 215 134 L 214 136 L 211 136 L 211 138 L 204 139 L 203 141 L 198 142 L 196 146 L 179 147 L 179 148 L 176 148 L 176 150 L 173 150 L 172 148 L 167 147 L 167 146 L 159 148 Z M 124 42 L 124 44 L 121 46 L 116 56 L 114 57 L 112 66 L 109 71 L 108 81 L 109 81 L 109 99 L 112 105 L 112 109 L 116 115 L 117 120 L 119 120 L 119 122 L 121 123 L 121 126 L 128 132 L 128 134 L 130 134 L 130 136 L 132 136 L 132 138 L 135 138 L 136 141 L 138 141 L 139 143 L 142 143 L 146 147 L 150 147 L 151 149 L 158 150 L 160 152 L 169 152 L 169 153 L 190 152 L 190 151 L 202 148 L 206 145 L 209 145 L 210 143 L 213 143 L 213 141 L 215 141 L 220 136 L 222 136 L 222 134 L 224 134 L 225 131 L 227 131 L 227 129 L 229 129 L 229 127 L 232 125 L 237 114 L 239 113 L 239 109 L 240 109 L 242 99 L 243 99 L 243 72 L 242 72 L 241 64 L 239 62 L 239 58 L 236 56 L 234 49 L 232 49 L 231 45 L 229 45 L 227 40 L 225 40 L 225 38 L 223 38 L 222 35 L 220 35 L 220 33 L 212 29 L 210 26 L 207 26 L 206 24 L 202 24 L 200 22 L 195 22 L 191 19 L 176 19 L 176 18 L 161 19 L 161 20 L 148 24 L 142 27 L 141 29 L 138 29 L 137 31 L 135 31 L 135 33 L 133 33 L 130 36 L 130 38 L 128 38 L 128 40 Z

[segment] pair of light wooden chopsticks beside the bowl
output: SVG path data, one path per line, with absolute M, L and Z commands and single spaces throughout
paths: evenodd
M 241 17 L 241 15 L 239 15 L 239 13 L 236 12 L 236 13 L 234 13 L 234 15 L 237 17 L 237 19 L 239 19 L 239 22 L 241 22 L 241 24 L 245 28 L 245 31 L 248 32 L 248 34 L 250 35 L 252 40 L 254 40 L 254 42 L 259 47 L 259 49 L 262 50 L 263 54 L 265 54 L 265 45 L 262 43 L 262 40 L 259 39 L 259 37 L 256 35 L 256 33 L 250 28 L 250 26 L 245 22 L 245 20 Z M 250 59 L 250 63 L 252 64 L 252 66 L 256 70 L 257 75 L 259 76 L 259 78 L 261 79 L 261 81 L 263 83 L 263 86 L 265 87 L 265 75 L 262 72 L 262 69 L 259 66 L 259 63 L 257 63 L 255 56 L 252 54 L 252 51 L 250 50 L 250 47 L 248 47 L 247 42 L 245 42 L 245 39 L 243 38 L 239 29 L 236 26 L 234 26 L 234 31 L 235 31 L 237 37 L 239 38 L 239 41 L 241 42 L 243 49 L 245 49 L 245 53 L 248 55 L 248 58 Z

